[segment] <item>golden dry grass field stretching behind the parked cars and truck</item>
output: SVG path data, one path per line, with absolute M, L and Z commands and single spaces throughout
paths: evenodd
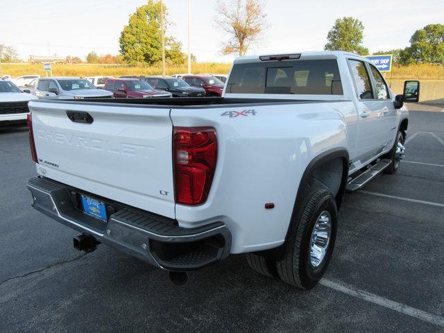
M 231 64 L 223 62 L 195 62 L 192 72 L 228 74 Z M 162 74 L 160 66 L 142 67 L 129 65 L 52 65 L 53 76 L 122 76 L 122 75 L 159 75 Z M 3 64 L 3 75 L 13 78 L 26 74 L 40 74 L 45 76 L 43 65 Z M 167 75 L 187 73 L 187 66 L 167 66 Z M 387 79 L 422 79 L 443 80 L 444 67 L 430 64 L 393 67 L 391 73 L 386 73 Z

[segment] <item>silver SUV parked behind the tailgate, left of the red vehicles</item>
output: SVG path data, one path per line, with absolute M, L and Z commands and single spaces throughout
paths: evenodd
M 112 92 L 97 89 L 84 78 L 39 78 L 33 94 L 39 99 L 110 99 Z

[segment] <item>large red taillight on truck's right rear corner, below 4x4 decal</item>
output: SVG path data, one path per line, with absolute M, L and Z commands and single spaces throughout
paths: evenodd
M 216 130 L 211 127 L 175 127 L 173 154 L 176 203 L 205 203 L 216 169 Z

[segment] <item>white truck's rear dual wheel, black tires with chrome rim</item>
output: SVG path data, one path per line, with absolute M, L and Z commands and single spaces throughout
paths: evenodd
M 312 189 L 302 205 L 296 230 L 287 241 L 284 259 L 276 262 L 280 278 L 300 289 L 311 289 L 321 280 L 332 256 L 338 212 L 330 191 Z

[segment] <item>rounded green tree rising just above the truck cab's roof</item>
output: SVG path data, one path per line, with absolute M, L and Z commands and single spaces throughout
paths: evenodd
M 336 19 L 334 26 L 328 32 L 324 49 L 355 52 L 365 56 L 368 54 L 368 49 L 362 45 L 363 40 L 364 24 L 354 17 L 343 17 Z

